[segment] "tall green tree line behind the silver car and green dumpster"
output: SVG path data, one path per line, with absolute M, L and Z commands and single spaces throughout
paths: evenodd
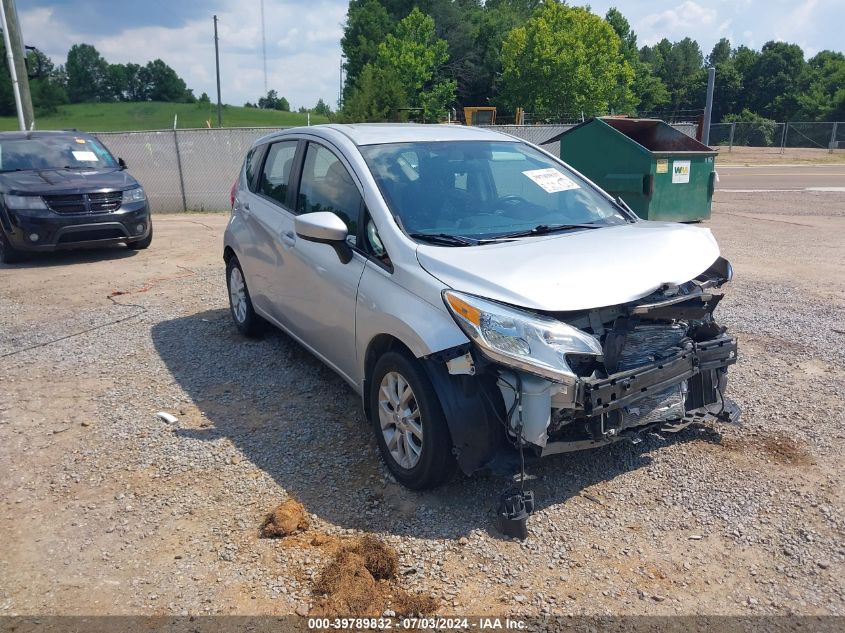
M 629 22 L 558 0 L 350 0 L 341 39 L 346 120 L 426 120 L 452 107 L 549 119 L 690 115 L 716 68 L 714 121 L 845 119 L 845 56 L 720 40 L 639 47 Z

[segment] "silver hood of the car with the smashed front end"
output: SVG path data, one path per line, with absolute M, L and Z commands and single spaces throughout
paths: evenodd
M 718 256 L 709 229 L 648 221 L 482 246 L 417 248 L 420 265 L 455 290 L 550 312 L 633 301 L 697 277 Z

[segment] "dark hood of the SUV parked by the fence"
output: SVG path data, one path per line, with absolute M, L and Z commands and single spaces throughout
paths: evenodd
M 116 168 L 41 169 L 0 174 L 0 188 L 3 192 L 18 195 L 85 193 L 98 189 L 129 189 L 137 184 L 137 181 L 127 172 Z

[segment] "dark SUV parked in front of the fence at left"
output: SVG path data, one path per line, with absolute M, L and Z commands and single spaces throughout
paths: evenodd
M 147 248 L 150 208 L 126 163 L 80 132 L 0 133 L 0 262 L 124 242 Z

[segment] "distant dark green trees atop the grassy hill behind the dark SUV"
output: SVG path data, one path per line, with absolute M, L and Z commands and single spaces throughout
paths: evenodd
M 0 43 L 0 115 L 15 114 L 12 80 Z M 30 92 L 36 110 L 53 112 L 66 103 L 116 101 L 170 101 L 194 103 L 193 91 L 175 70 L 161 59 L 146 65 L 110 64 L 90 44 L 74 44 L 67 62 L 56 66 L 43 52 L 27 56 Z M 206 100 L 207 100 L 206 96 Z

